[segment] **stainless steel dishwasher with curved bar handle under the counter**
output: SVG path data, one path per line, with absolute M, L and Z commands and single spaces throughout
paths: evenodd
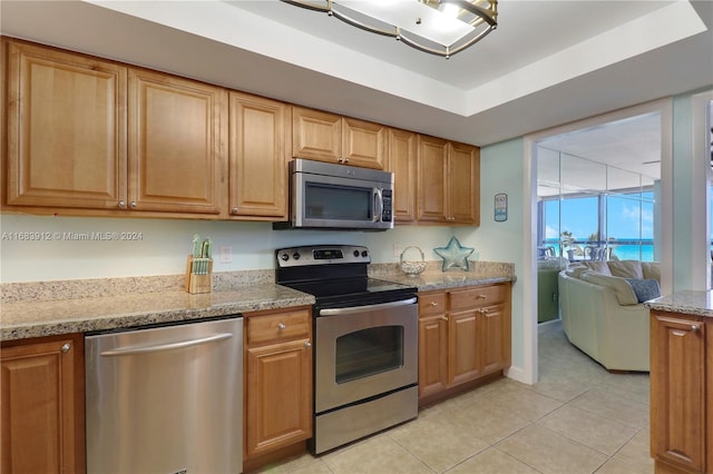
M 243 318 L 89 334 L 87 472 L 243 468 Z

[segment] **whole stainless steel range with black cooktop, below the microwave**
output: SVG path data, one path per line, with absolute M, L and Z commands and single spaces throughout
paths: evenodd
M 369 249 L 283 248 L 276 282 L 314 295 L 314 454 L 418 415 L 417 288 L 369 278 Z

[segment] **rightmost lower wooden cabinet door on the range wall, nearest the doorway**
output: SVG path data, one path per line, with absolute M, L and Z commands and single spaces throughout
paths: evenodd
M 491 374 L 510 365 L 510 318 L 506 304 L 480 309 L 482 373 Z

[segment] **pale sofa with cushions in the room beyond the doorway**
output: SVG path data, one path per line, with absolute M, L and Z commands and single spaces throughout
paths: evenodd
M 558 274 L 569 342 L 609 372 L 648 372 L 648 308 L 661 296 L 658 263 L 575 263 Z

